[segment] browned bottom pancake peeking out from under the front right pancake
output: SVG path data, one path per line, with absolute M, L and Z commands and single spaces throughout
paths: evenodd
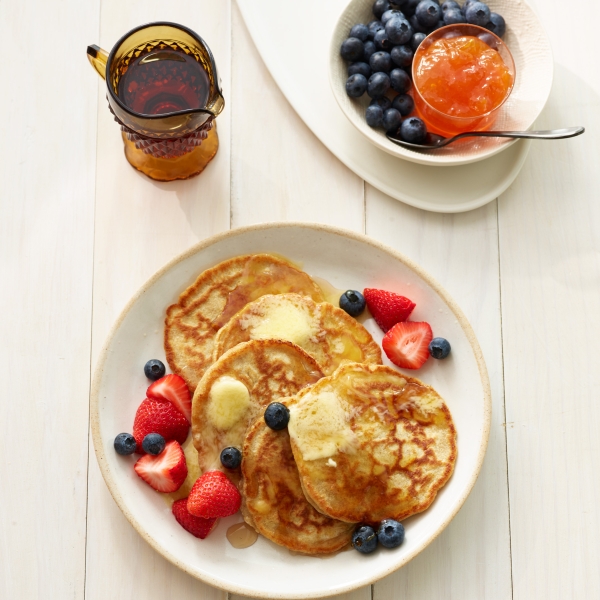
M 266 538 L 295 552 L 329 554 L 351 542 L 354 525 L 330 519 L 304 497 L 287 430 L 259 416 L 244 442 L 242 514 Z

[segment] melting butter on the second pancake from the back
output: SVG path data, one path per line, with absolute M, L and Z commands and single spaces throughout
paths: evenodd
M 253 317 L 247 324 L 253 340 L 286 340 L 304 346 L 316 334 L 308 312 L 289 303 L 275 304 L 260 318 Z

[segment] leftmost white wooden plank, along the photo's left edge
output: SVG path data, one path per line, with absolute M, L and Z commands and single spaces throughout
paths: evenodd
M 0 3 L 7 600 L 84 594 L 96 81 L 83 49 L 98 33 L 98 6 L 65 0 L 40 19 L 37 4 Z

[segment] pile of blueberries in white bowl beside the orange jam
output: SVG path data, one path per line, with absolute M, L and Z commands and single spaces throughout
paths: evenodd
M 366 92 L 372 98 L 365 113 L 370 127 L 383 127 L 405 142 L 422 144 L 427 129 L 421 119 L 409 116 L 414 101 L 408 94 L 419 44 L 445 25 L 470 23 L 502 37 L 506 24 L 487 4 L 475 0 L 466 0 L 462 7 L 454 0 L 441 6 L 438 0 L 375 0 L 373 15 L 375 20 L 354 25 L 342 42 L 340 53 L 350 62 L 346 93 L 359 98 Z

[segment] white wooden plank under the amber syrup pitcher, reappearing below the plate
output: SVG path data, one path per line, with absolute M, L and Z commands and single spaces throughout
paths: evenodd
M 143 22 L 169 20 L 200 33 L 210 46 L 223 92 L 230 96 L 229 2 L 187 0 L 166 6 L 152 0 L 124 5 L 103 0 L 100 45 Z M 90 40 L 89 43 L 93 43 Z M 86 73 L 92 77 L 91 70 Z M 201 239 L 229 228 L 230 107 L 218 119 L 220 147 L 200 177 L 153 182 L 123 156 L 118 125 L 101 86 L 98 105 L 98 164 L 94 249 L 92 355 L 96 361 L 108 331 L 135 291 L 171 258 Z M 206 598 L 211 588 L 159 556 L 125 520 L 110 496 L 90 443 L 86 598 Z

